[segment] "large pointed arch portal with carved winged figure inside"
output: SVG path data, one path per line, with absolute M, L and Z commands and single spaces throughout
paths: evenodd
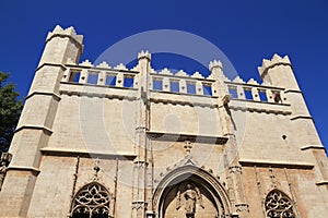
M 153 209 L 159 218 L 224 217 L 231 214 L 231 203 L 224 186 L 211 173 L 186 165 L 160 181 Z

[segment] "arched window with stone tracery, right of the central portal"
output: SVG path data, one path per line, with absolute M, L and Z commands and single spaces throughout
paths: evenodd
M 293 203 L 279 190 L 271 191 L 266 198 L 266 213 L 269 218 L 294 218 Z

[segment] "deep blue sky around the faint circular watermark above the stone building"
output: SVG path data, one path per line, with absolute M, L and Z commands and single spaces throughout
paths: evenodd
M 56 24 L 84 35 L 82 59 L 151 29 L 179 29 L 218 46 L 245 81 L 262 58 L 289 55 L 328 146 L 328 1 L 0 1 L 0 71 L 27 94 L 46 35 Z M 197 69 L 195 69 L 197 70 Z

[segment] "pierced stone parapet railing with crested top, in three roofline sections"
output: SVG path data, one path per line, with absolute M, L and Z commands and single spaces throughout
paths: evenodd
M 137 89 L 140 85 L 138 65 L 131 70 L 124 64 L 110 68 L 106 62 L 94 66 L 86 60 L 80 64 L 68 62 L 66 68 L 61 80 L 66 84 L 128 89 Z M 148 76 L 148 89 L 151 92 L 218 97 L 214 87 L 216 80 L 212 75 L 204 77 L 199 72 L 188 75 L 181 70 L 174 74 L 166 68 L 159 72 L 150 68 Z M 284 88 L 260 85 L 253 78 L 246 83 L 239 76 L 233 81 L 225 77 L 224 86 L 234 100 L 288 105 Z

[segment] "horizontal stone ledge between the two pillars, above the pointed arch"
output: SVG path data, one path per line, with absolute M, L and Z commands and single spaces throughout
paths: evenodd
M 166 142 L 186 142 L 191 143 L 206 143 L 206 144 L 219 144 L 223 145 L 227 142 L 227 137 L 214 136 L 214 135 L 196 135 L 196 134 L 176 134 L 176 133 L 163 133 L 148 131 L 147 135 L 154 141 L 166 141 Z

